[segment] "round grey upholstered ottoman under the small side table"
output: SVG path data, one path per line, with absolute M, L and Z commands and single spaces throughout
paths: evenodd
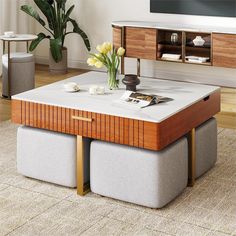
M 2 56 L 2 95 L 8 96 L 8 55 Z M 30 53 L 11 53 L 11 91 L 10 96 L 34 88 L 34 55 Z

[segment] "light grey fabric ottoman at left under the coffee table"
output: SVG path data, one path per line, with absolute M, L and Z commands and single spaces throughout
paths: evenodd
M 89 155 L 89 140 L 85 153 Z M 89 158 L 85 182 L 89 181 Z M 76 136 L 22 126 L 17 132 L 17 170 L 22 175 L 76 187 Z

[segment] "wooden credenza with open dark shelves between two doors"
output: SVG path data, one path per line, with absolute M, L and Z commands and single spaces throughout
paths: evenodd
M 221 33 L 207 30 L 158 28 L 147 22 L 115 22 L 113 26 L 113 43 L 115 47 L 126 49 L 125 57 L 162 61 L 164 53 L 181 55 L 178 60 L 171 62 L 198 64 L 236 68 L 236 30 L 234 33 Z M 178 34 L 178 41 L 171 43 L 171 34 Z M 194 46 L 193 39 L 201 36 L 204 46 Z M 207 57 L 204 63 L 194 63 L 187 56 Z

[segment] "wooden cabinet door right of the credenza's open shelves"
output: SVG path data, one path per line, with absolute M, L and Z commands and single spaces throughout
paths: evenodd
M 213 66 L 236 68 L 236 35 L 213 33 Z

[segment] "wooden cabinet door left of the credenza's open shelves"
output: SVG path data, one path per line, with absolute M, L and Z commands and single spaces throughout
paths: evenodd
M 156 60 L 157 30 L 126 27 L 126 57 Z

